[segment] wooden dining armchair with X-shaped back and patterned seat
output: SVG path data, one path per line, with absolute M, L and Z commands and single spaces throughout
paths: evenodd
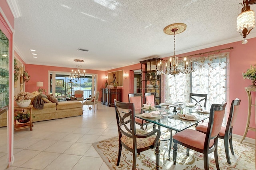
M 116 101 L 116 99 L 114 99 L 114 103 L 119 137 L 116 166 L 119 166 L 120 163 L 122 146 L 133 154 L 132 170 L 136 170 L 137 153 L 140 154 L 142 151 L 156 148 L 156 169 L 159 169 L 160 130 L 154 129 L 151 132 L 147 132 L 136 128 L 134 103 L 124 103 Z M 124 109 L 127 109 L 128 112 L 122 112 Z

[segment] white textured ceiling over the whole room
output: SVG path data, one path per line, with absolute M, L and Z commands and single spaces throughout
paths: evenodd
M 240 2 L 17 0 L 21 16 L 14 21 L 14 49 L 28 64 L 76 67 L 74 59 L 83 59 L 83 69 L 105 71 L 173 55 L 174 37 L 163 32 L 173 23 L 187 25 L 176 35 L 176 54 L 242 41 L 236 32 Z M 248 35 L 254 37 L 256 30 Z

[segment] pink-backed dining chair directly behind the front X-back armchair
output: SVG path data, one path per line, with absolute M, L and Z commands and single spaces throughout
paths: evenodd
M 134 111 L 135 113 L 141 113 L 142 108 L 142 93 L 129 93 L 128 94 L 129 103 L 134 103 Z M 146 128 L 148 127 L 149 123 L 146 123 L 146 121 L 136 117 L 135 123 L 137 125 L 140 125 L 141 129 L 144 129 L 143 126 L 146 125 Z

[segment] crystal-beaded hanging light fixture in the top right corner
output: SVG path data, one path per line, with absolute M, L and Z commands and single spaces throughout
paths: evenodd
M 250 10 L 249 4 L 256 4 L 256 0 L 243 0 L 243 3 L 240 4 L 243 6 L 243 8 L 237 17 L 236 29 L 237 32 L 239 32 L 244 38 L 242 44 L 246 44 L 248 42 L 245 40 L 246 36 L 255 27 L 255 13 L 253 10 Z

